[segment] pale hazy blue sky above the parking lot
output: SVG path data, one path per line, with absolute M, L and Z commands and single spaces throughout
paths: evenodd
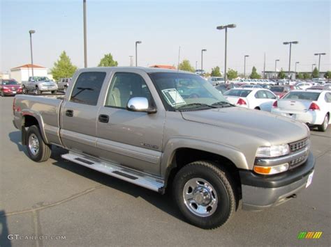
M 82 0 L 15 1 L 0 0 L 0 72 L 31 63 L 29 30 L 34 64 L 51 68 L 62 51 L 84 67 Z M 225 32 L 216 26 L 236 24 L 228 29 L 228 68 L 242 73 L 256 66 L 258 72 L 277 68 L 311 71 L 321 57 L 321 71 L 331 70 L 330 1 L 96 1 L 87 0 L 87 64 L 95 67 L 104 54 L 111 53 L 119 66 L 176 65 L 188 59 L 193 67 L 224 67 Z M 180 55 L 179 55 L 180 47 Z

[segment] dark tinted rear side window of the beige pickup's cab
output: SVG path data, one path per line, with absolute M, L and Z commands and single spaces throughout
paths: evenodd
M 71 101 L 80 104 L 96 106 L 100 90 L 105 79 L 105 72 L 84 72 L 78 77 Z

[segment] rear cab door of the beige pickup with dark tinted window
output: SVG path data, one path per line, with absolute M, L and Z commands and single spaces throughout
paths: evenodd
M 82 72 L 61 107 L 61 140 L 68 149 L 96 156 L 98 99 L 106 72 Z

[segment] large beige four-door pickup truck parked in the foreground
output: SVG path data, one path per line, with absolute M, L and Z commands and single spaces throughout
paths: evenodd
M 79 70 L 61 97 L 17 95 L 13 123 L 29 157 L 62 157 L 165 193 L 189 223 L 217 228 L 243 209 L 311 184 L 309 128 L 230 104 L 197 74 L 143 67 Z

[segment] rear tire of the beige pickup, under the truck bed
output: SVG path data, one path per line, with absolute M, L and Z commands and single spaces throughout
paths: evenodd
M 38 141 L 38 151 L 34 152 L 32 146 L 30 145 L 30 138 L 32 140 Z M 50 145 L 47 145 L 43 141 L 43 137 L 41 136 L 41 132 L 39 130 L 39 127 L 36 125 L 33 125 L 29 127 L 27 130 L 27 137 L 26 137 L 26 143 L 27 143 L 27 151 L 29 154 L 29 158 L 36 162 L 43 162 L 47 161 L 47 159 L 50 158 L 50 154 L 52 152 Z M 31 141 L 32 143 L 32 141 Z

